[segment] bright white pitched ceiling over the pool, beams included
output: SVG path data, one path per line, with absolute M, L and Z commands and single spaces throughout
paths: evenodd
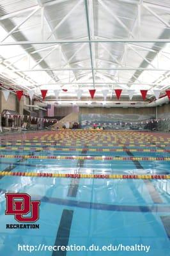
M 1 0 L 1 84 L 49 90 L 66 88 L 59 100 L 82 99 L 88 90 L 164 90 L 170 86 L 169 1 Z M 76 102 L 75 102 L 76 104 Z M 77 101 L 78 104 L 78 101 Z

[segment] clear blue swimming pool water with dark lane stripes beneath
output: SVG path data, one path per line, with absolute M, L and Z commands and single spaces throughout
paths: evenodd
M 18 140 L 18 141 L 17 141 Z M 15 145 L 17 141 L 18 145 Z M 125 145 L 127 143 L 127 145 Z M 144 145 L 149 145 L 150 147 Z M 155 144 L 154 144 L 155 143 Z M 27 144 L 27 145 L 26 145 Z M 45 145 L 49 144 L 49 145 Z M 53 144 L 53 145 L 52 145 Z M 100 144 L 100 145 L 99 145 Z M 101 144 L 103 146 L 101 146 Z M 123 145 L 123 146 L 120 146 Z M 84 150 L 86 148 L 86 150 Z M 125 151 L 128 148 L 128 152 Z M 101 151 L 99 151 L 99 149 Z M 109 151 L 104 151 L 108 149 Z M 121 151 L 111 151 L 121 149 Z M 143 151 L 137 151 L 142 149 Z M 150 152 L 144 151 L 149 149 Z M 156 150 L 152 152 L 151 150 Z M 164 152 L 160 150 L 164 149 Z M 0 171 L 35 173 L 169 174 L 169 161 L 97 159 L 33 159 L 14 156 L 169 157 L 170 138 L 164 134 L 114 131 L 58 131 L 1 138 Z M 103 150 L 103 151 L 102 151 Z M 13 157 L 10 157 L 13 156 Z M 70 179 L 0 177 L 0 255 L 170 255 L 169 180 Z M 5 215 L 4 194 L 28 193 L 40 200 L 39 229 L 6 229 L 18 222 Z M 18 244 L 38 246 L 150 246 L 144 251 L 102 252 L 18 251 Z

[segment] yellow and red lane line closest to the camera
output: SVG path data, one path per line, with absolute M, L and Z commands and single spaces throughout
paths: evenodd
M 36 173 L 36 172 L 0 172 L 0 176 L 51 177 L 72 179 L 170 179 L 169 175 L 124 175 L 124 174 L 73 174 L 73 173 Z

